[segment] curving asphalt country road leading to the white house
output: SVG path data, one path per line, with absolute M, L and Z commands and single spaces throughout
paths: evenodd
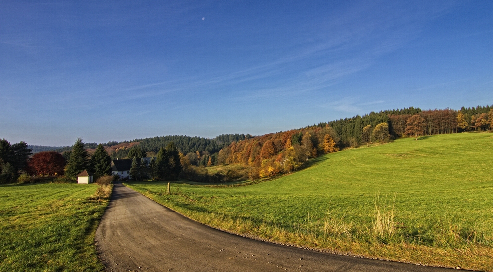
M 96 231 L 106 271 L 450 271 L 322 253 L 225 233 L 115 184 Z

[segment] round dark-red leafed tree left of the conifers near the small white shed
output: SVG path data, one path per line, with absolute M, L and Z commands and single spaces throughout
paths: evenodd
M 67 161 L 58 152 L 47 151 L 36 153 L 28 164 L 28 172 L 33 175 L 61 176 Z

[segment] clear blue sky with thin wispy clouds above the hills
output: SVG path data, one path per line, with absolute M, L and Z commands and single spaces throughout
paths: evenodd
M 493 104 L 493 1 L 0 2 L 0 138 L 72 145 Z

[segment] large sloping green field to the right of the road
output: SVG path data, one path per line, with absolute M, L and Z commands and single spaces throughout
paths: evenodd
M 186 216 L 303 247 L 493 270 L 493 134 L 399 139 L 249 186 L 128 184 Z

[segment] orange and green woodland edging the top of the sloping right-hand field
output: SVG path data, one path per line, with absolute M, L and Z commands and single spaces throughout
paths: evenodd
M 463 113 L 463 112 L 464 113 Z M 405 108 L 371 112 L 305 128 L 233 142 L 218 153 L 218 164 L 243 164 L 249 178 L 289 173 L 311 157 L 344 147 L 387 142 L 401 137 L 486 131 L 493 128 L 490 106 L 421 110 Z

